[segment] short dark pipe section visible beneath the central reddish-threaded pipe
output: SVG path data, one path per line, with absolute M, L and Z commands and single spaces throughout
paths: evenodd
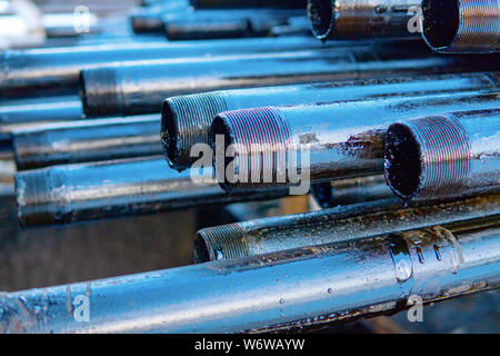
M 392 190 L 382 175 L 314 184 L 311 194 L 321 208 L 388 199 Z

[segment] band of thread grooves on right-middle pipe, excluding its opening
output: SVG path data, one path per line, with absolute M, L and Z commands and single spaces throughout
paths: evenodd
M 408 123 L 419 146 L 422 172 L 419 199 L 459 194 L 471 174 L 471 142 L 453 115 L 436 116 Z

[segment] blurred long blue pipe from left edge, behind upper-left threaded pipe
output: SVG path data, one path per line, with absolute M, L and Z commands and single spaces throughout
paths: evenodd
M 261 38 L 167 43 L 124 42 L 79 47 L 6 51 L 0 57 L 0 97 L 16 98 L 78 92 L 78 76 L 84 68 L 120 62 L 207 57 L 214 53 L 262 53 L 320 48 L 309 38 Z

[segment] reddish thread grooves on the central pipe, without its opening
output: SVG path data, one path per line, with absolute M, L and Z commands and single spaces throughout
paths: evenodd
M 277 155 L 286 155 L 291 148 L 291 130 L 281 111 L 264 107 L 228 111 L 221 117 L 229 128 L 230 144 L 236 148 L 234 160 L 239 177 L 243 178 L 232 186 L 232 190 L 274 187 Z M 264 159 L 271 165 L 270 172 L 263 169 Z M 270 176 L 271 181 L 264 181 L 263 174 Z M 252 181 L 252 177 L 258 177 L 258 181 Z

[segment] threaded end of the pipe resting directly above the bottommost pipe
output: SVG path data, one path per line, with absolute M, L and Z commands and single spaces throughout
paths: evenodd
M 248 256 L 243 226 L 239 222 L 216 226 L 198 231 L 194 241 L 194 260 L 232 259 Z

